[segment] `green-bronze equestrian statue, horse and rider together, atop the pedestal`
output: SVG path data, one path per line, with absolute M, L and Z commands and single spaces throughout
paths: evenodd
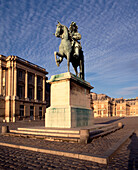
M 77 67 L 79 66 L 79 77 L 84 80 L 84 56 L 81 43 L 81 34 L 78 33 L 78 26 L 72 22 L 69 29 L 60 22 L 57 24 L 56 37 L 61 38 L 59 52 L 54 52 L 56 65 L 59 66 L 63 58 L 67 59 L 68 72 L 70 71 L 70 62 L 78 75 Z M 59 56 L 59 58 L 57 58 Z

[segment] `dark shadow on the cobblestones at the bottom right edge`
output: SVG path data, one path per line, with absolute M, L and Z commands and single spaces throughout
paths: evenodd
M 138 169 L 138 137 L 136 133 L 131 137 L 131 143 L 128 145 L 130 150 L 129 160 L 128 160 L 128 169 L 137 170 Z

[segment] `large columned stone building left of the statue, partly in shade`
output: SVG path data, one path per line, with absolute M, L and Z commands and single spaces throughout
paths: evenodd
M 20 57 L 0 55 L 0 120 L 44 118 L 49 105 L 47 74 Z

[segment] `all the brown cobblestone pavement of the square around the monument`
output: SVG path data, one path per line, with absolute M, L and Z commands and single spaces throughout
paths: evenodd
M 75 151 L 81 153 L 103 154 L 109 149 L 112 144 L 117 142 L 123 135 L 126 135 L 130 130 L 138 130 L 138 117 L 136 118 L 103 118 L 95 119 L 96 123 L 116 123 L 122 122 L 125 127 L 103 138 L 98 138 L 87 145 L 75 143 L 61 143 L 51 142 L 39 139 L 28 139 L 22 137 L 8 137 L 0 136 L 1 142 L 18 143 L 27 146 L 49 148 L 64 151 Z M 20 123 L 20 127 L 25 127 L 27 122 Z M 11 123 L 12 124 L 12 123 Z M 19 127 L 19 125 L 12 124 L 12 129 Z M 21 125 L 22 124 L 22 125 Z M 34 124 L 40 126 L 40 122 L 31 122 L 29 125 Z M 1 123 L 3 125 L 3 123 Z M 42 125 L 42 123 L 41 123 Z M 9 124 L 10 126 L 10 124 Z M 11 129 L 11 127 L 10 127 Z M 133 169 L 137 167 L 138 160 L 138 133 L 136 132 L 131 139 L 129 139 L 123 147 L 116 153 L 108 166 L 72 159 L 67 157 L 60 157 L 48 155 L 38 152 L 13 149 L 9 147 L 0 146 L 0 169 Z

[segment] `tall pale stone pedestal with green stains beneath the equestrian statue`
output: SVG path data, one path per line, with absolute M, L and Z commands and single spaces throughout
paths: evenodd
M 45 127 L 76 128 L 92 126 L 90 107 L 93 87 L 70 72 L 54 75 L 51 84 L 51 106 L 46 109 Z

